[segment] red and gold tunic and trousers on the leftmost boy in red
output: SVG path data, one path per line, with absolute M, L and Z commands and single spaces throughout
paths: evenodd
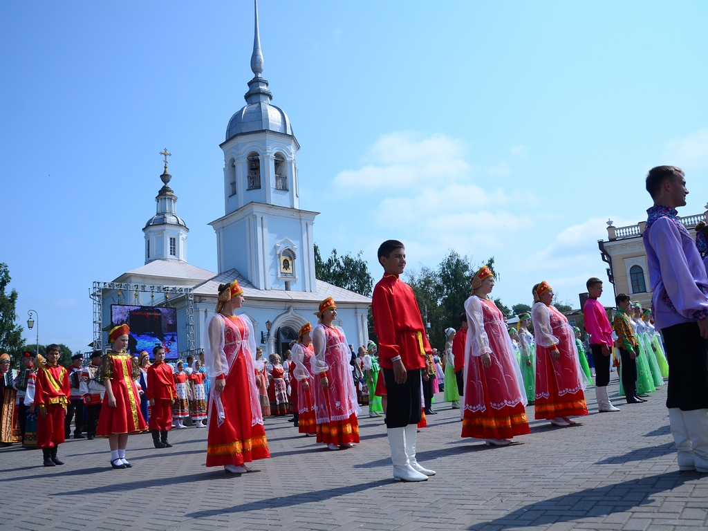
M 64 442 L 64 415 L 69 404 L 69 371 L 48 362 L 37 371 L 34 404 L 47 416 L 37 417 L 37 447 L 54 448 Z

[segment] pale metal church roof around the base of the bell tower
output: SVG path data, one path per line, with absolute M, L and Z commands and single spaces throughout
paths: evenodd
M 316 281 L 316 292 L 258 290 L 235 269 L 225 271 L 224 273 L 207 280 L 207 282 L 203 282 L 202 284 L 195 286 L 194 295 L 201 295 L 202 297 L 212 296 L 216 298 L 219 292 L 219 284 L 226 284 L 228 282 L 233 282 L 234 280 L 238 280 L 239 285 L 244 290 L 246 304 L 249 299 L 312 302 L 313 304 L 319 304 L 319 302 L 323 301 L 327 297 L 332 297 L 337 303 L 371 304 L 370 297 L 359 295 L 358 293 L 345 290 L 343 287 L 337 287 L 327 282 L 323 282 L 322 280 Z

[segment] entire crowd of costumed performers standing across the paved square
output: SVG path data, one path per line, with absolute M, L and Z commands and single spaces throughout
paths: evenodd
M 314 312 L 317 323 L 299 329 L 283 359 L 271 354 L 266 361 L 251 321 L 235 314 L 244 295 L 234 280 L 219 286 L 207 349 L 186 364 L 166 362 L 162 346 L 152 355 L 127 353 L 126 324 L 110 331 L 110 350 L 94 351 L 86 366 L 82 355 L 69 367 L 58 365 L 55 344 L 45 356 L 24 353 L 20 370 L 0 355 L 0 442 L 41 448 L 44 466 L 60 465 L 58 448 L 73 420 L 75 439 L 108 438 L 110 467 L 126 469 L 132 467 L 128 435 L 149 431 L 156 448 L 171 447 L 169 431 L 190 419 L 195 428 L 208 428 L 207 467 L 244 474 L 252 470 L 248 463 L 270 457 L 263 417 L 292 413 L 299 433 L 343 450 L 360 442 L 365 406 L 369 416 L 384 416 L 394 479 L 425 481 L 435 471 L 418 463 L 416 434 L 426 415 L 436 413 L 435 394 L 461 410 L 462 438 L 506 446 L 530 433 L 527 406 L 536 420 L 573 426 L 573 418 L 588 415 L 585 391 L 593 376 L 598 411 L 617 412 L 607 393 L 615 367 L 619 396 L 641 404 L 665 384 L 671 362 L 667 406 L 679 467 L 708 472 L 706 234 L 699 227 L 694 242 L 676 219 L 674 209 L 687 194 L 682 171 L 653 169 L 646 188 L 655 202 L 644 240 L 656 323 L 651 309 L 624 294 L 615 297 L 610 321 L 598 301 L 603 281 L 590 278 L 586 343 L 583 331 L 554 307 L 545 281 L 530 290 L 530 312 L 508 326 L 490 297 L 495 278 L 485 266 L 472 276 L 458 327 L 445 329 L 445 348 L 438 352 L 428 342 L 413 290 L 401 280 L 404 244 L 388 240 L 379 247 L 384 275 L 372 296 L 378 345 L 369 342 L 355 353 L 328 297 Z M 678 265 L 676 256 L 683 257 Z

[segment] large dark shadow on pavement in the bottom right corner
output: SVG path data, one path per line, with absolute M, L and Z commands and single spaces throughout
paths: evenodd
M 700 477 L 697 472 L 670 472 L 621 483 L 584 489 L 565 496 L 529 503 L 500 518 L 481 522 L 470 527 L 471 531 L 505 530 L 510 527 L 552 525 L 575 522 L 583 518 L 602 518 L 613 513 L 624 513 L 634 507 L 651 503 L 653 494 L 670 491 Z M 634 499 L 629 495 L 636 496 Z M 548 514 L 544 514 L 548 513 Z

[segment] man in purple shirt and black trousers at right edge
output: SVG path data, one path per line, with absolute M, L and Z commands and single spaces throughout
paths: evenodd
M 654 201 L 644 247 L 651 305 L 669 363 L 666 407 L 678 468 L 708 472 L 708 276 L 676 207 L 686 204 L 683 170 L 657 166 L 646 176 Z

